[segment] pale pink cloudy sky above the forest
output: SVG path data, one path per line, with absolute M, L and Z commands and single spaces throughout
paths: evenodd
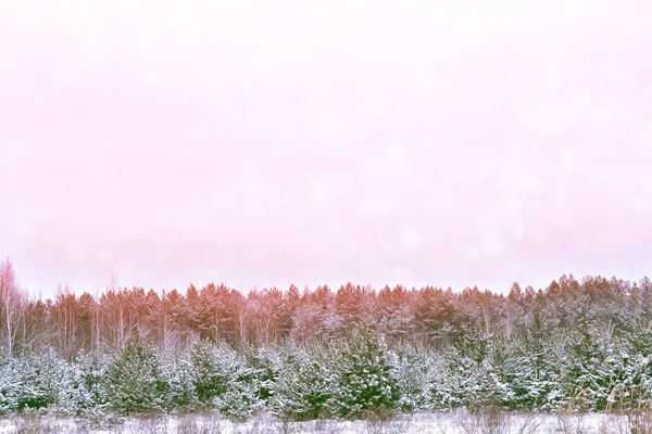
M 43 295 L 649 276 L 650 23 L 644 0 L 9 2 L 0 254 Z

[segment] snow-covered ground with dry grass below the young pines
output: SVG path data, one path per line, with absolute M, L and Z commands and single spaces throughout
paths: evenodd
M 652 423 L 643 423 L 650 430 Z M 553 414 L 491 413 L 469 414 L 466 411 L 421 413 L 404 416 L 392 421 L 344 422 L 323 420 L 283 423 L 262 416 L 247 423 L 231 423 L 216 414 L 128 419 L 122 424 L 101 430 L 91 429 L 84 421 L 52 417 L 11 418 L 0 421 L 0 433 L 16 434 L 267 434 L 267 433 L 336 433 L 336 434 L 620 434 L 651 433 L 632 431 L 632 421 L 626 417 L 585 414 L 564 417 Z M 642 427 L 642 426 L 641 426 Z

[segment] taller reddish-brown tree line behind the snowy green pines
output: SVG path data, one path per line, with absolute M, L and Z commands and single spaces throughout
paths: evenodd
M 53 298 L 30 298 L 16 284 L 11 261 L 0 266 L 0 346 L 8 357 L 54 350 L 66 360 L 79 352 L 114 353 L 139 336 L 165 352 L 183 352 L 200 340 L 278 345 L 336 337 L 371 324 L 388 345 L 418 342 L 444 349 L 465 330 L 510 339 L 535 316 L 547 333 L 574 330 L 581 323 L 627 334 L 652 314 L 652 282 L 616 278 L 562 276 L 546 289 L 509 294 L 461 292 L 397 285 L 374 290 L 347 283 L 300 291 L 291 285 L 252 290 L 243 295 L 224 284 L 190 284 L 158 293 L 120 288 L 113 280 L 93 296 L 59 289 Z

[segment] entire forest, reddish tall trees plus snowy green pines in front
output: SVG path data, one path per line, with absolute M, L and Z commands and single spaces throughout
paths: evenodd
M 241 421 L 652 399 L 652 282 L 477 288 L 109 288 L 34 299 L 0 271 L 0 412 L 216 410 Z M 111 286 L 111 285 L 110 285 Z

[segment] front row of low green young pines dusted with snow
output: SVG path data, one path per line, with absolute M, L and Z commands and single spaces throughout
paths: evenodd
M 463 334 L 450 348 L 391 348 L 365 327 L 297 345 L 209 340 L 166 353 L 138 336 L 112 355 L 0 358 L 0 414 L 27 409 L 112 414 L 217 410 L 243 421 L 391 418 L 453 408 L 652 411 L 652 324 L 631 335 L 589 324 L 551 335 L 535 318 L 512 339 Z

